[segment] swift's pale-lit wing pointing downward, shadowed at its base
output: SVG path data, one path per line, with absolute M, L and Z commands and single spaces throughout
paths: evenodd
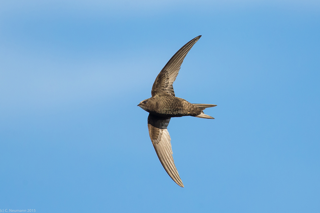
M 158 158 L 165 171 L 181 187 L 183 186 L 178 170 L 174 165 L 171 149 L 171 138 L 167 130 L 170 118 L 162 118 L 152 114 L 148 116 L 149 136 Z

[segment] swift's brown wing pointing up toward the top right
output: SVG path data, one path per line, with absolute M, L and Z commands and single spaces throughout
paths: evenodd
M 183 59 L 186 57 L 192 46 L 200 39 L 201 35 L 195 37 L 183 47 L 180 48 L 168 61 L 168 63 L 162 68 L 159 75 L 156 77 L 153 83 L 151 95 L 154 96 L 158 93 L 164 92 L 167 96 L 175 96 L 172 84 L 179 73 L 180 66 Z

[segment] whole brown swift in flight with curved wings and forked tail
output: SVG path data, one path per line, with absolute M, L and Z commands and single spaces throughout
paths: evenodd
M 214 119 L 204 114 L 203 111 L 205 108 L 217 106 L 215 104 L 191 104 L 185 99 L 176 97 L 172 86 L 183 59 L 200 37 L 201 35 L 186 43 L 172 56 L 156 77 L 151 89 L 151 98 L 137 105 L 149 113 L 149 136 L 164 170 L 181 187 L 184 185 L 173 161 L 171 138 L 167 129 L 170 119 L 182 116 Z

